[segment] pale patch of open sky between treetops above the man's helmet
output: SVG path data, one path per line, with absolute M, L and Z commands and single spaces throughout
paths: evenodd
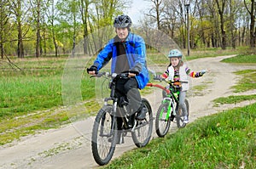
M 143 19 L 143 12 L 148 12 L 151 2 L 144 0 L 132 0 L 131 8 L 127 9 L 127 14 L 131 17 L 133 24 L 139 24 L 139 20 Z

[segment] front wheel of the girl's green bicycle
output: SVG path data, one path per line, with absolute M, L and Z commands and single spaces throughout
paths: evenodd
M 171 125 L 171 118 L 167 117 L 167 110 L 169 107 L 169 103 L 162 103 L 160 104 L 159 109 L 157 110 L 156 117 L 155 117 L 155 132 L 160 138 L 166 136 L 167 132 L 170 129 Z M 173 109 L 173 108 L 172 108 Z M 168 118 L 168 120 L 166 120 Z

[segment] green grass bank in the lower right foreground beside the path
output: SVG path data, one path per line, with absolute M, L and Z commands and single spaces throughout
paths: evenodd
M 256 167 L 256 104 L 196 120 L 102 168 Z

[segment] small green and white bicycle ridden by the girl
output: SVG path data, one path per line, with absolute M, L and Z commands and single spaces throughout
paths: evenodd
M 154 80 L 161 81 L 159 78 L 154 78 Z M 174 119 L 176 119 L 178 128 L 185 127 L 184 112 L 178 107 L 179 91 L 173 87 L 172 83 L 170 83 L 169 89 L 159 84 L 148 83 L 148 86 L 159 87 L 163 90 L 163 100 L 161 101 L 155 117 L 155 130 L 157 135 L 160 138 L 165 137 L 170 129 L 171 122 L 174 121 Z M 184 104 L 189 116 L 189 100 L 185 99 Z

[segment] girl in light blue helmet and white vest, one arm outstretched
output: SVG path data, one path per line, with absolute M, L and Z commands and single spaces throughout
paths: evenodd
M 173 87 L 180 91 L 178 106 L 185 114 L 183 122 L 189 123 L 187 108 L 184 104 L 186 92 L 189 90 L 188 76 L 200 77 L 203 76 L 207 70 L 201 70 L 199 72 L 191 71 L 189 67 L 183 63 L 182 57 L 183 54 L 179 50 L 172 49 L 168 54 L 168 58 L 170 58 L 170 65 L 168 65 L 168 69 L 162 77 L 165 78 L 166 81 L 174 82 L 172 83 Z

